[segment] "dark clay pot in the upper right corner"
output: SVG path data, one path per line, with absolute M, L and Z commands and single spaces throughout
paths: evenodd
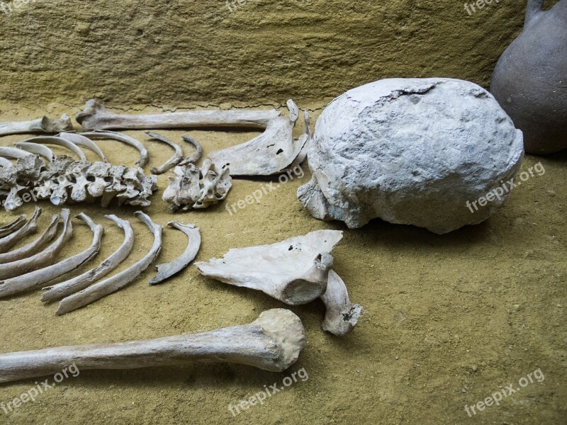
M 567 0 L 528 0 L 522 33 L 496 64 L 490 92 L 524 132 L 529 154 L 567 148 Z

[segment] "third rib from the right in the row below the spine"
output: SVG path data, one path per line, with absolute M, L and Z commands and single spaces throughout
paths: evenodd
M 108 258 L 100 263 L 99 266 L 96 266 L 75 278 L 57 283 L 57 285 L 43 288 L 45 291 L 41 297 L 43 302 L 60 300 L 61 298 L 79 292 L 79 290 L 88 288 L 91 283 L 103 278 L 115 268 L 120 266 L 120 263 L 122 263 L 122 261 L 124 261 L 130 254 L 134 245 L 134 232 L 130 222 L 128 220 L 120 220 L 120 218 L 116 217 L 116 215 L 105 215 L 105 217 L 108 218 L 108 220 L 112 220 L 116 223 L 116 225 L 118 225 L 118 227 L 123 229 L 124 242 L 113 254 L 111 254 L 111 256 L 108 256 Z

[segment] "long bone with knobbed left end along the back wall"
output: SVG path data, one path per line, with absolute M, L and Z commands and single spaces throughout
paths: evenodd
M 266 128 L 278 118 L 276 109 L 267 111 L 188 111 L 146 115 L 116 114 L 91 99 L 76 117 L 88 130 L 157 130 L 167 128 Z

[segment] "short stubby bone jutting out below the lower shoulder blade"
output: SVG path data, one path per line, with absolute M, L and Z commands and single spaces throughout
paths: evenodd
M 347 286 L 334 270 L 329 271 L 327 291 L 321 295 L 321 300 L 327 308 L 322 329 L 337 336 L 352 331 L 357 325 L 362 307 L 350 302 Z

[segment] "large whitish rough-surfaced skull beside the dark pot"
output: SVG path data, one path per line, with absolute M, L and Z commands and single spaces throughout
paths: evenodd
M 361 227 L 379 217 L 444 234 L 500 208 L 524 154 L 495 98 L 456 79 L 385 79 L 348 91 L 320 115 L 298 190 L 316 218 Z M 488 193 L 493 202 L 473 204 Z

